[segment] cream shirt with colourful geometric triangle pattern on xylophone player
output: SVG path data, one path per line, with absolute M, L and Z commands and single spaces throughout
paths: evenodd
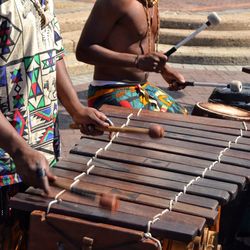
M 31 0 L 0 1 L 0 110 L 53 165 L 59 154 L 56 61 L 63 47 L 51 0 L 47 13 L 51 21 L 42 29 Z M 20 181 L 12 159 L 0 149 L 0 187 Z

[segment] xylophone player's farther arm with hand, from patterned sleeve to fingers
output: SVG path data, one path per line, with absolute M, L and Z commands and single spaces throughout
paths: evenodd
M 56 86 L 58 98 L 71 115 L 76 124 L 81 125 L 81 132 L 84 134 L 100 135 L 103 132 L 93 129 L 94 126 L 107 127 L 109 124 L 105 121 L 107 117 L 94 108 L 84 107 L 72 86 L 70 77 L 67 73 L 63 59 L 56 64 Z M 88 125 L 94 125 L 90 127 Z

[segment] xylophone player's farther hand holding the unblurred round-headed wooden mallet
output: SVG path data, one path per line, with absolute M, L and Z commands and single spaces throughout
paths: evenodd
M 94 108 L 81 107 L 72 117 L 76 124 L 81 125 L 81 132 L 86 135 L 102 135 L 103 131 L 97 127 L 108 127 L 107 117 Z

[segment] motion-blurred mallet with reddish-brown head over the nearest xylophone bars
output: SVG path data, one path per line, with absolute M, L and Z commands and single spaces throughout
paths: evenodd
M 53 182 L 50 182 L 50 184 L 52 186 L 63 188 L 69 192 L 80 195 L 90 200 L 95 200 L 97 197 L 97 193 L 71 186 L 71 184 L 67 183 L 65 179 L 61 177 L 57 177 L 56 180 Z M 117 209 L 119 208 L 119 200 L 114 194 L 102 193 L 100 194 L 99 205 L 102 208 L 105 208 L 107 210 L 114 212 L 114 211 L 117 211 Z

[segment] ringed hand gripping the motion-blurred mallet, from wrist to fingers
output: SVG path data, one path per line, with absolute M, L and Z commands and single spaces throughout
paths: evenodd
M 43 189 L 47 195 L 50 194 L 49 181 L 54 181 L 55 176 L 50 173 L 49 163 L 41 153 L 24 146 L 15 152 L 12 158 L 24 183 Z

